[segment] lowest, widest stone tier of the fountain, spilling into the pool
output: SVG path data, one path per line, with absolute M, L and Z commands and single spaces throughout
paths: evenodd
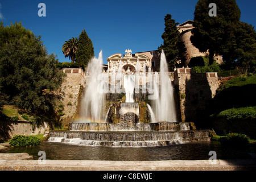
M 208 130 L 179 131 L 50 131 L 49 142 L 82 146 L 156 147 L 209 140 Z

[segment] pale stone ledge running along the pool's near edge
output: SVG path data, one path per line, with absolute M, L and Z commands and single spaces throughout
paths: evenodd
M 256 170 L 256 160 L 165 160 L 165 161 L 106 161 L 106 160 L 0 160 L 0 170 L 32 171 L 232 171 Z

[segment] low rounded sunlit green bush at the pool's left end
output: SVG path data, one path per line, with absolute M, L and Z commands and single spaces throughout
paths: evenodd
M 15 135 L 14 138 L 10 140 L 10 146 L 13 147 L 26 147 L 26 146 L 36 146 L 40 144 L 41 140 L 35 136 L 24 136 Z

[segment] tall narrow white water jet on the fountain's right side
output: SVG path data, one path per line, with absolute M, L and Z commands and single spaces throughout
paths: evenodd
M 159 122 L 177 122 L 174 88 L 167 72 L 168 65 L 166 56 L 162 50 L 160 57 L 160 93 L 156 100 L 156 118 Z

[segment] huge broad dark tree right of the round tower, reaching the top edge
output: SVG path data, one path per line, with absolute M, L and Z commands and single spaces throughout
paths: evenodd
M 217 6 L 217 16 L 209 16 L 209 4 Z M 214 54 L 222 55 L 236 42 L 234 30 L 241 11 L 236 0 L 199 0 L 194 13 L 191 42 L 200 52 L 209 50 L 209 64 Z

